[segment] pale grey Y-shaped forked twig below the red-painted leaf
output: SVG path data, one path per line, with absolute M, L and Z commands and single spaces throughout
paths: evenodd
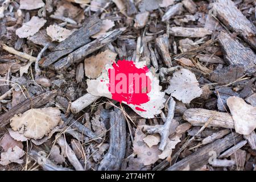
M 156 126 L 156 127 L 150 127 L 150 129 L 146 129 L 147 133 L 149 134 L 154 134 L 154 133 L 159 133 L 161 135 L 161 141 L 159 145 L 159 150 L 164 150 L 167 144 L 167 139 L 170 135 L 170 128 L 172 127 L 172 119 L 174 118 L 174 110 L 175 110 L 175 104 L 176 102 L 174 99 L 171 97 L 169 104 L 168 104 L 168 115 L 166 118 L 166 122 L 164 122 L 164 125 Z

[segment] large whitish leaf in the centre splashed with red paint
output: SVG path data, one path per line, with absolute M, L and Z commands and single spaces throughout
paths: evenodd
M 99 76 L 96 80 L 89 80 L 89 79 L 87 80 L 87 85 L 88 85 L 87 91 L 88 91 L 88 93 L 90 93 L 94 96 L 108 97 L 113 100 L 117 100 L 116 97 L 125 98 L 127 101 L 122 100 L 121 102 L 129 105 L 131 107 L 131 109 L 133 109 L 137 114 L 141 115 L 141 117 L 154 118 L 154 115 L 159 114 L 160 110 L 164 107 L 164 105 L 163 105 L 163 102 L 165 101 L 164 92 L 160 92 L 162 87 L 159 86 L 158 78 L 153 76 L 153 74 L 147 69 L 145 64 L 146 64 L 146 61 L 140 61 L 139 63 L 134 63 L 133 61 L 119 60 L 117 62 L 117 64 L 114 63 L 113 65 L 115 65 L 117 71 L 122 72 L 125 70 L 126 72 L 129 72 L 129 74 L 131 72 L 131 74 L 133 74 L 133 76 L 136 74 L 136 73 L 133 73 L 135 68 L 139 69 L 139 71 L 141 71 L 141 69 L 146 70 L 145 71 L 146 73 L 144 73 L 144 75 L 146 75 L 146 79 L 151 81 L 150 89 L 148 89 L 149 86 L 147 86 L 147 84 L 146 84 L 147 81 L 145 81 L 145 82 L 139 81 L 139 83 L 135 82 L 135 80 L 136 80 L 135 79 L 136 75 L 135 75 L 134 76 L 135 78 L 133 78 L 133 80 L 131 80 L 131 82 L 134 81 L 134 84 L 127 85 L 129 82 L 126 82 L 126 81 L 129 81 L 129 78 L 127 78 L 126 81 L 123 80 L 123 81 L 118 82 L 118 84 L 123 83 L 124 85 L 127 86 L 127 88 L 129 88 L 128 91 L 125 90 L 126 93 L 123 93 L 122 90 L 121 90 L 121 93 L 115 92 L 115 90 L 114 90 L 114 92 L 110 92 L 111 89 L 109 90 L 109 85 L 111 85 L 111 84 L 110 84 L 109 77 L 111 77 L 111 76 L 109 76 L 109 72 L 111 72 L 111 71 L 109 71 L 109 69 L 114 69 L 114 71 L 115 71 L 115 68 L 113 67 L 113 65 L 107 64 L 105 69 L 102 71 L 101 76 Z M 122 68 L 120 68 L 120 66 Z M 131 68 L 134 68 L 134 69 L 131 69 Z M 122 75 L 122 73 L 120 75 Z M 116 77 L 114 79 L 116 79 Z M 144 87 L 143 87 L 143 84 L 144 84 Z M 146 92 L 146 93 L 142 94 L 142 91 L 141 91 L 140 93 L 137 94 L 134 89 L 134 85 L 138 86 L 138 88 L 140 88 L 141 90 L 146 89 L 146 91 L 148 91 L 148 93 Z M 114 85 L 113 88 L 114 87 L 117 87 L 117 86 Z M 113 94 L 115 97 L 113 97 Z M 128 96 L 126 96 L 126 95 L 128 95 Z M 134 101 L 135 103 L 131 102 L 137 96 L 139 97 L 139 99 L 141 99 L 142 98 L 141 95 L 143 95 L 143 99 L 144 99 L 144 96 L 146 95 L 147 100 L 145 99 L 145 100 L 141 101 L 140 104 L 136 104 L 137 102 L 135 102 L 135 101 Z M 136 101 L 138 101 L 139 99 L 137 98 Z

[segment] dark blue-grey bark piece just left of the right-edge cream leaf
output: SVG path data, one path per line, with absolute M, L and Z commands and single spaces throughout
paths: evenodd
M 225 86 L 223 88 L 216 90 L 216 96 L 218 98 L 217 107 L 220 111 L 226 111 L 228 106 L 226 105 L 226 100 L 232 96 L 238 96 L 238 93 L 234 92 L 232 88 Z

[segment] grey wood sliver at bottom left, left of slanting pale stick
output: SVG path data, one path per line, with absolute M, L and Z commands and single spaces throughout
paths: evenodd
M 40 167 L 43 168 L 44 171 L 73 171 L 68 168 L 63 168 L 54 164 L 48 158 L 43 158 L 42 155 L 38 154 L 38 152 L 32 150 L 29 152 L 29 156 L 35 160 L 39 164 Z

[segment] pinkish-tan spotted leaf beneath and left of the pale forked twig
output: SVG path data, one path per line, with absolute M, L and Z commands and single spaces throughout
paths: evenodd
M 134 154 L 137 154 L 139 163 L 143 163 L 145 166 L 154 164 L 159 159 L 159 154 L 161 151 L 158 149 L 158 146 L 148 147 L 146 143 L 143 142 L 143 139 L 146 135 L 142 132 L 142 129 L 145 125 L 137 126 L 134 137 L 133 151 Z M 146 125 L 147 126 L 147 125 Z

